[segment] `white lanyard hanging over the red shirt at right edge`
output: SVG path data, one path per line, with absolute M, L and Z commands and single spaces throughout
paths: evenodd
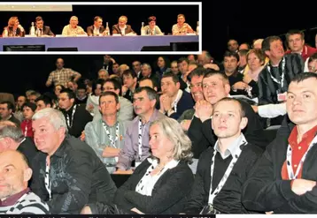
M 295 174 L 294 174 L 293 167 L 291 164 L 292 149 L 291 149 L 290 144 L 289 144 L 289 146 L 287 147 L 287 153 L 286 153 L 286 167 L 287 167 L 287 172 L 289 173 L 290 179 L 297 179 L 298 178 L 298 173 L 305 162 L 306 155 L 308 154 L 309 150 L 314 146 L 315 143 L 317 143 L 317 136 L 315 136 L 313 138 L 313 141 L 309 145 L 307 151 L 303 155 L 302 159 L 300 159 L 300 162 L 298 163 L 298 169 L 296 170 Z

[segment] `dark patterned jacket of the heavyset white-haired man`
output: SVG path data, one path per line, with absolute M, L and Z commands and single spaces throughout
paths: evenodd
M 51 214 L 79 214 L 87 203 L 112 203 L 117 188 L 104 163 L 91 147 L 70 135 L 50 156 L 49 200 L 44 184 L 46 156 L 39 152 L 33 161 L 31 189 L 48 203 Z

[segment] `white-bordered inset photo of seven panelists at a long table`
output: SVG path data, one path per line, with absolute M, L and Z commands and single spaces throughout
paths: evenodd
M 201 52 L 201 3 L 0 3 L 0 52 Z

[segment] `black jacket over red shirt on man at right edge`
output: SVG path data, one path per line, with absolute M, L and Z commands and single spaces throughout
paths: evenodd
M 291 191 L 291 180 L 282 180 L 288 138 L 294 127 L 295 124 L 286 116 L 276 138 L 251 170 L 243 188 L 244 207 L 262 212 L 274 211 L 274 214 L 317 213 L 317 186 L 312 192 L 298 196 Z M 302 178 L 317 181 L 316 166 L 317 147 L 313 146 L 306 156 Z

